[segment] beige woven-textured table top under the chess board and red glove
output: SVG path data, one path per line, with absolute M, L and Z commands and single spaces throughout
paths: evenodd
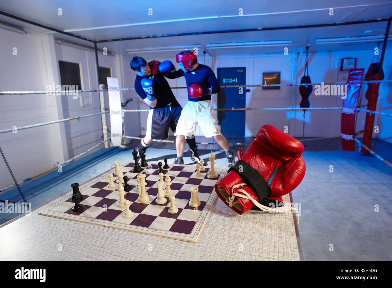
M 238 215 L 218 197 L 198 242 L 38 215 L 68 193 L 0 228 L 2 261 L 300 261 L 293 213 Z M 283 196 L 285 205 L 291 194 Z

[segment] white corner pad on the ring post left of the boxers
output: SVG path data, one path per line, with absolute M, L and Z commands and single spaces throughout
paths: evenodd
M 121 97 L 118 78 L 106 77 L 109 92 L 110 131 L 113 146 L 120 146 L 122 140 Z

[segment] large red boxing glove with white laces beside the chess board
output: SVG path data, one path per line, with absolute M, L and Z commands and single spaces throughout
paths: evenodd
M 271 208 L 270 203 L 282 201 L 282 195 L 301 183 L 305 176 L 302 152 L 303 144 L 297 139 L 274 126 L 264 125 L 247 151 L 237 153 L 238 162 L 216 182 L 215 191 L 238 214 L 254 206 L 263 211 L 296 210 L 291 206 Z

